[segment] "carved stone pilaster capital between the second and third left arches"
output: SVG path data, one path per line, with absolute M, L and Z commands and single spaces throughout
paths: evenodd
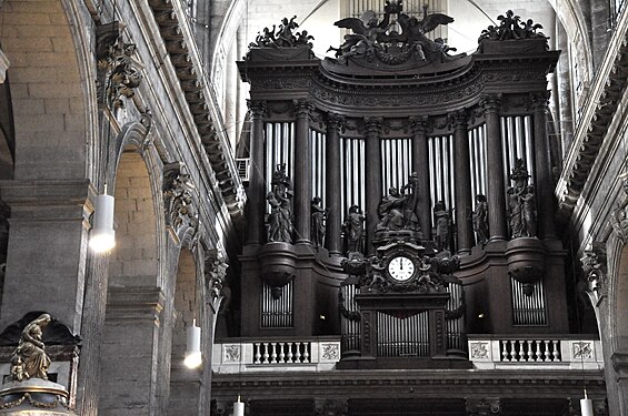
M 181 162 L 163 166 L 163 205 L 166 225 L 177 241 L 193 240 L 199 229 L 197 190 Z

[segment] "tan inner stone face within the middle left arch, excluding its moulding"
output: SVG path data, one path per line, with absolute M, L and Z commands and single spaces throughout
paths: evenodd
M 116 247 L 111 252 L 101 346 L 99 414 L 148 414 L 154 404 L 159 313 L 157 215 L 144 160 L 122 153 L 113 191 Z

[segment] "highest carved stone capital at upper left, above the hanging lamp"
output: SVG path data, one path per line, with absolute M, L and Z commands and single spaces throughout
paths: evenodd
M 133 58 L 136 45 L 122 40 L 117 21 L 98 27 L 96 42 L 98 102 L 110 110 L 123 108 L 142 80 L 142 64 Z

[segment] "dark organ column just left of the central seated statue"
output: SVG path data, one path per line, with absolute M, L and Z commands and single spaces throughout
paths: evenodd
M 379 221 L 377 207 L 381 201 L 381 150 L 379 134 L 381 131 L 381 118 L 365 118 L 366 129 L 366 197 L 367 197 L 367 254 L 373 254 L 372 237 L 375 227 Z

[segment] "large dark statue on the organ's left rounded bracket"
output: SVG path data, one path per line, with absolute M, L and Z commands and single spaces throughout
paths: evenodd
M 272 174 L 272 191 L 267 194 L 270 204 L 268 215 L 268 242 L 292 242 L 292 185 L 286 173 L 286 163 L 278 164 Z

